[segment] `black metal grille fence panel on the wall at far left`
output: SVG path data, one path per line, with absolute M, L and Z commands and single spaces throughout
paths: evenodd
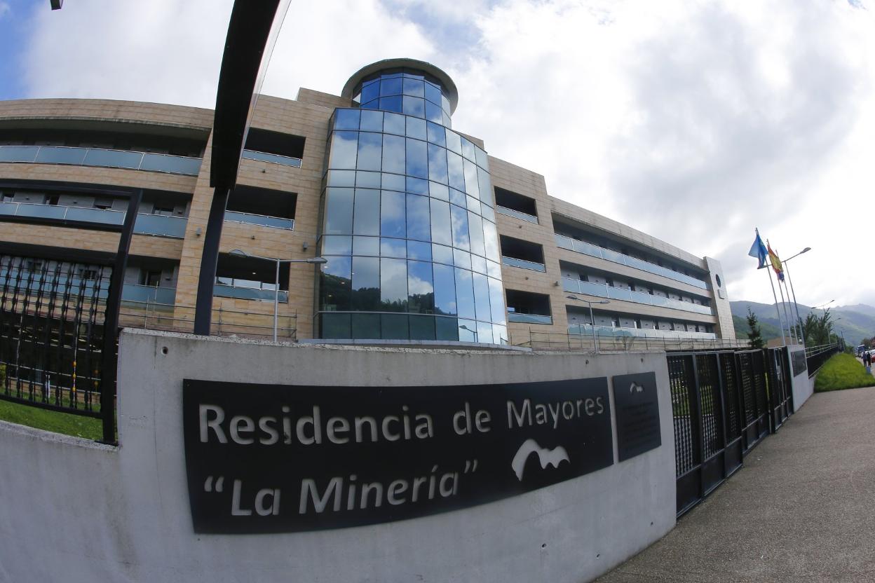
M 112 269 L 0 255 L 0 399 L 101 417 Z

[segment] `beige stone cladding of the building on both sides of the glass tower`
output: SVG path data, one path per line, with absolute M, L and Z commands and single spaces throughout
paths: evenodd
M 227 219 L 221 236 L 221 253 L 239 249 L 250 255 L 283 259 L 314 256 L 318 248 L 328 122 L 334 108 L 350 105 L 348 99 L 308 89 L 301 89 L 295 101 L 269 96 L 259 98 L 252 127 L 303 138 L 303 155 L 300 156 L 299 167 L 243 159 L 238 184 L 279 191 L 294 197 L 294 228 L 274 228 Z M 135 266 L 149 266 L 154 261 L 162 261 L 162 265 L 172 264 L 175 307 L 162 312 L 161 317 L 168 318 L 170 316 L 167 314 L 176 314 L 180 323 L 177 328 L 185 330 L 193 317 L 200 256 L 213 198 L 213 189 L 209 185 L 212 122 L 213 112 L 207 109 L 154 103 L 67 99 L 3 101 L 0 102 L 0 185 L 4 185 L 9 192 L 17 188 L 38 190 L 40 185 L 45 184 L 123 187 L 156 191 L 162 197 L 178 199 L 179 204 L 185 207 L 184 235 L 168 237 L 137 233 L 130 253 L 131 263 Z M 58 135 L 77 131 L 123 132 L 130 135 L 160 135 L 165 140 L 200 140 L 203 144 L 203 162 L 197 176 L 76 163 L 2 162 L 6 159 L 3 157 L 4 148 L 16 147 L 14 138 L 17 132 L 46 135 L 46 132 L 51 134 L 52 131 Z M 478 138 L 472 137 L 471 140 L 478 145 L 483 144 Z M 51 140 L 45 145 L 57 147 Z M 136 150 L 133 147 L 131 149 Z M 527 343 L 534 332 L 567 334 L 569 324 L 573 323 L 569 314 L 577 318 L 579 310 L 585 308 L 583 302 L 571 300 L 568 295 L 591 301 L 602 299 L 597 295 L 570 294 L 565 289 L 567 281 L 563 281 L 565 272 L 577 274 L 581 281 L 587 274 L 592 274 L 591 277 L 595 279 L 613 278 L 627 282 L 628 288 L 636 285 L 638 289 L 650 290 L 648 293 L 658 290 L 669 297 L 677 295 L 679 301 L 689 301 L 690 305 L 699 302 L 700 306 L 711 307 L 710 314 L 703 314 L 622 299 L 611 299 L 611 304 L 598 306 L 602 308 L 598 310 L 599 313 L 603 316 L 613 315 L 618 318 L 618 323 L 634 323 L 636 328 L 658 327 L 659 323 L 668 323 L 675 330 L 683 327 L 685 331 L 702 330 L 716 337 L 734 338 L 725 282 L 720 281 L 722 288 L 718 286 L 718 276 L 720 280 L 723 277 L 718 261 L 697 257 L 646 233 L 552 198 L 544 177 L 535 172 L 491 156 L 489 163 L 494 187 L 530 199 L 536 209 L 533 215 L 536 216 L 536 222 L 509 216 L 498 209 L 500 236 L 520 239 L 542 250 L 542 271 L 512 267 L 506 261 L 501 269 L 504 287 L 513 292 L 546 295 L 549 298 L 550 323 L 514 322 L 514 314 L 511 314 L 508 331 L 512 344 Z M 15 205 L 16 199 L 8 198 L 6 203 Z M 0 215 L 0 219 L 4 217 Z M 678 273 L 685 271 L 700 278 L 706 285 L 704 288 L 690 285 L 663 274 L 562 248 L 556 244 L 558 231 L 555 223 L 561 223 L 566 231 L 570 229 L 581 235 L 591 234 L 620 248 L 628 247 L 628 253 L 632 255 L 646 256 L 653 261 L 664 260 L 672 269 L 679 269 Z M 13 243 L 19 252 L 22 248 L 32 248 L 35 252 L 51 254 L 52 247 L 65 247 L 115 253 L 117 240 L 116 233 L 89 231 L 51 220 L 0 220 L 0 253 L 4 246 L 11 248 L 5 244 Z M 279 305 L 279 315 L 284 319 L 280 325 L 297 331 L 289 332 L 287 336 L 305 339 L 314 335 L 316 275 L 316 266 L 290 266 L 289 281 L 285 282 L 289 290 L 288 302 Z M 286 288 L 285 285 L 281 287 Z M 257 321 L 255 325 L 267 330 L 272 322 L 272 301 L 216 297 L 214 309 L 221 309 L 224 323 L 233 322 L 242 326 Z M 134 320 L 131 318 L 131 322 Z M 148 323 L 148 316 L 144 322 Z

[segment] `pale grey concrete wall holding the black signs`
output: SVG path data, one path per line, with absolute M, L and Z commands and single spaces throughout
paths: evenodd
M 275 535 L 193 533 L 183 378 L 467 385 L 638 371 L 656 373 L 662 446 L 626 462 L 521 496 L 395 523 Z M 586 581 L 675 524 L 662 353 L 276 345 L 126 330 L 118 400 L 119 448 L 0 423 L 0 580 Z M 613 392 L 611 400 L 613 411 Z

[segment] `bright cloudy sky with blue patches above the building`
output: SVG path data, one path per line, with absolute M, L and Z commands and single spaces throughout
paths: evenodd
M 0 99 L 212 108 L 231 0 L 0 0 Z M 773 302 L 759 227 L 797 300 L 875 305 L 875 0 L 291 0 L 262 92 L 339 94 L 423 59 L 453 128 L 549 194 L 698 256 Z M 524 194 L 524 193 L 523 193 Z

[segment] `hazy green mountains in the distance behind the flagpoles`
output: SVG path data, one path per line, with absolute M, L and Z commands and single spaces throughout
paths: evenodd
M 732 321 L 735 323 L 736 334 L 739 334 L 739 331 L 741 331 L 745 333 L 745 336 L 747 335 L 747 308 L 749 306 L 751 311 L 760 320 L 764 339 L 768 340 L 769 338 L 781 336 L 781 324 L 778 323 L 778 315 L 774 303 L 745 302 L 744 300 L 729 303 L 732 308 Z M 783 306 L 785 304 L 779 303 L 778 305 L 781 306 L 781 317 L 783 318 Z M 786 307 L 789 312 L 793 308 L 793 304 L 786 303 Z M 799 316 L 802 319 L 808 316 L 812 310 L 809 306 L 799 304 Z M 816 309 L 814 311 L 817 314 L 823 314 L 823 309 Z M 793 313 L 795 315 L 795 309 Z M 742 321 L 737 321 L 735 316 L 739 316 Z M 848 344 L 856 345 L 863 338 L 875 337 L 875 308 L 872 306 L 865 303 L 858 303 L 852 306 L 837 306 L 830 309 L 830 316 L 832 316 L 833 330 L 836 330 L 839 336 L 844 335 L 844 339 Z M 791 316 L 791 320 L 795 322 L 795 317 Z M 767 324 L 769 325 L 768 334 Z

